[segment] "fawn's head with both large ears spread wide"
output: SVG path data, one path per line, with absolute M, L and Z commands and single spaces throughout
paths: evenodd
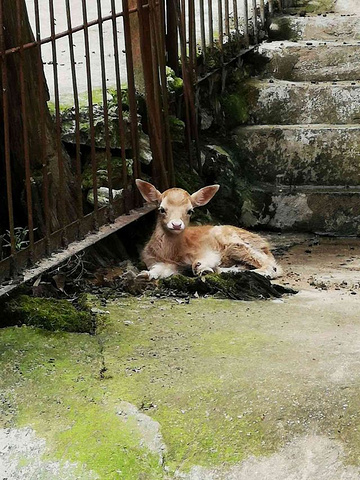
M 175 235 L 189 225 L 194 208 L 206 205 L 220 188 L 219 185 L 211 185 L 190 195 L 182 188 L 170 188 L 160 193 L 154 185 L 139 179 L 136 185 L 147 202 L 155 202 L 159 206 L 158 225 L 165 232 Z

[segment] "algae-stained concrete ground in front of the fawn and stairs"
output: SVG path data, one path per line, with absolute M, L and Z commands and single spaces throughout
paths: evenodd
M 360 478 L 359 239 L 280 236 L 297 295 L 93 299 L 0 331 L 0 478 Z

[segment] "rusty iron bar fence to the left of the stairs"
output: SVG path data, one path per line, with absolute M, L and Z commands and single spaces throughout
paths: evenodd
M 133 209 L 136 219 L 144 170 L 159 188 L 174 183 L 167 65 L 183 78 L 190 148 L 209 59 L 221 68 L 230 41 L 256 44 L 272 11 L 272 0 L 0 0 L 0 285 Z

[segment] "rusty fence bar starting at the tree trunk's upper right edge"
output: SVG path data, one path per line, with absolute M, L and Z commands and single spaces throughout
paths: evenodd
M 38 82 L 39 82 L 39 103 L 40 103 L 40 144 L 41 144 L 41 164 L 42 164 L 42 177 L 43 177 L 43 204 L 44 204 L 44 217 L 45 217 L 45 245 L 46 253 L 50 255 L 50 202 L 49 202 L 49 171 L 48 162 L 46 156 L 46 118 L 45 118 L 45 78 L 43 71 L 43 63 L 41 58 L 41 43 L 40 43 L 40 10 L 39 0 L 34 1 L 35 10 L 35 28 L 36 28 L 36 41 L 38 42 Z

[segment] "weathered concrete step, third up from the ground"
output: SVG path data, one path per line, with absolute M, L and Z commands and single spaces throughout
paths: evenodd
M 251 79 L 239 94 L 246 100 L 249 124 L 360 124 L 360 82 Z

